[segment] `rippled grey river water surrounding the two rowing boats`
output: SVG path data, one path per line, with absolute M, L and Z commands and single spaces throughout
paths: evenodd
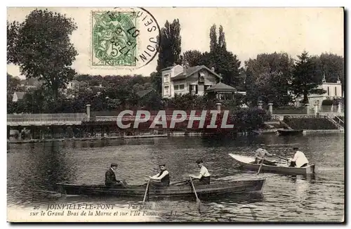
M 150 200 L 176 212 L 157 221 L 324 221 L 338 222 L 344 215 L 343 133 L 309 133 L 305 136 L 239 136 L 228 139 L 173 137 L 106 141 L 66 141 L 8 145 L 8 207 L 30 207 L 57 203 L 109 203 L 125 207 L 141 199 L 60 197 L 55 183 L 103 183 L 111 162 L 129 184 L 145 183 L 157 174 L 160 161 L 167 164 L 171 182 L 198 174 L 199 157 L 213 179 L 257 177 L 241 171 L 228 153 L 253 155 L 260 143 L 281 156 L 292 156 L 298 146 L 316 164 L 314 177 L 260 174 L 266 177 L 263 195 L 214 197 L 202 201 L 202 212 L 194 199 Z

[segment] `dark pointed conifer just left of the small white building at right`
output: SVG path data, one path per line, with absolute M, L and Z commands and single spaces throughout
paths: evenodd
M 313 63 L 307 51 L 298 55 L 298 61 L 293 69 L 291 89 L 296 97 L 303 96 L 303 103 L 308 103 L 309 94 L 322 94 L 323 89 L 317 89 L 322 81 L 314 74 L 316 65 Z

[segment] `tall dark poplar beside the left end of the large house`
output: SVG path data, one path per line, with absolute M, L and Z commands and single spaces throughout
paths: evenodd
M 173 20 L 170 24 L 166 21 L 161 29 L 161 39 L 159 39 L 159 59 L 157 60 L 157 72 L 173 64 L 180 63 L 180 23 L 179 19 Z

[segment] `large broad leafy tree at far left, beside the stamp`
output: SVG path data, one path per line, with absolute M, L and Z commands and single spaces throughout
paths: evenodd
M 24 22 L 8 26 L 8 62 L 20 66 L 27 78 L 37 78 L 58 98 L 58 89 L 65 88 L 74 77 L 71 66 L 77 51 L 69 35 L 77 29 L 71 18 L 60 13 L 34 10 Z

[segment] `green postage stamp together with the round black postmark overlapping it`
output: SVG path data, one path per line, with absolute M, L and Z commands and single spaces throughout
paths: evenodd
M 144 8 L 92 11 L 91 65 L 143 67 L 157 55 L 160 34 L 157 20 Z

